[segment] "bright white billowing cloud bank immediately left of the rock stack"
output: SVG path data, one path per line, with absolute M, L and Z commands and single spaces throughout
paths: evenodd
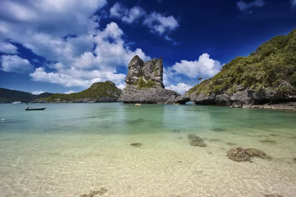
M 69 56 L 65 56 L 64 53 L 59 59 L 60 62 L 47 65 L 56 69 L 56 72 L 46 72 L 43 67 L 39 67 L 30 76 L 34 81 L 57 83 L 66 87 L 88 87 L 94 82 L 106 80 L 120 84 L 126 75 L 117 74 L 116 66 L 127 66 L 135 55 L 144 61 L 150 59 L 142 49 L 131 51 L 122 40 L 122 35 L 123 32 L 118 25 L 111 22 L 105 30 L 98 31 L 93 36 L 93 42 L 96 44 L 93 52 L 87 51 L 73 58 L 72 51 L 66 50 L 70 53 Z M 113 39 L 112 42 L 108 40 L 110 37 Z M 72 45 L 69 46 L 71 49 Z

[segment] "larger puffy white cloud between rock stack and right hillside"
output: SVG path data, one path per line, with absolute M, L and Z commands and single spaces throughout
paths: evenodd
M 210 55 L 207 53 L 199 56 L 196 61 L 181 60 L 181 63 L 175 63 L 175 65 L 168 68 L 168 71 L 176 74 L 184 74 L 187 77 L 195 78 L 203 76 L 212 77 L 217 74 L 222 68 L 222 64 L 210 59 Z

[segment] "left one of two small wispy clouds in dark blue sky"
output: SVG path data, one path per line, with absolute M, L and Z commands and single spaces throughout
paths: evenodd
M 111 17 L 121 18 L 121 20 L 126 23 L 133 23 L 145 14 L 145 10 L 140 6 L 134 6 L 128 9 L 119 2 L 116 2 L 110 8 Z

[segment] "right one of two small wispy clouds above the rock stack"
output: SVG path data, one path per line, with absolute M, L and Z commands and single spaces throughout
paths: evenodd
M 176 30 L 179 27 L 179 23 L 174 16 L 166 17 L 157 12 L 149 14 L 143 24 L 150 29 L 150 32 L 159 33 L 160 35 Z

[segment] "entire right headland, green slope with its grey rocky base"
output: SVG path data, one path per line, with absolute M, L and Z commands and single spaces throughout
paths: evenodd
M 250 107 L 296 100 L 296 30 L 237 57 L 175 102 Z

